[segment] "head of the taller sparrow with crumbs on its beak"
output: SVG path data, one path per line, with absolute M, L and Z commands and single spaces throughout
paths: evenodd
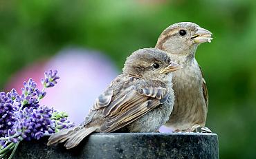
M 191 22 L 170 25 L 158 38 L 156 48 L 169 54 L 193 55 L 200 43 L 211 42 L 212 33 Z

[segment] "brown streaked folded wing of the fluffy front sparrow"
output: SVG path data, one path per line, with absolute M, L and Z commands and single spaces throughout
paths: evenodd
M 158 86 L 147 87 L 140 83 L 123 87 L 122 91 L 114 94 L 111 103 L 104 107 L 102 114 L 107 120 L 100 127 L 100 131 L 116 131 L 165 103 L 168 97 L 167 89 Z

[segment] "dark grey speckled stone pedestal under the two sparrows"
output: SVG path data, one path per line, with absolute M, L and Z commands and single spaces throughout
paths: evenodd
M 217 134 L 116 133 L 92 134 L 77 147 L 46 146 L 48 137 L 21 142 L 16 159 L 32 158 L 218 158 Z

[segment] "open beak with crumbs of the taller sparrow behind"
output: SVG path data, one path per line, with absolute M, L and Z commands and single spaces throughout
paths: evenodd
M 194 43 L 210 43 L 212 40 L 212 32 L 198 27 L 196 33 L 191 38 Z

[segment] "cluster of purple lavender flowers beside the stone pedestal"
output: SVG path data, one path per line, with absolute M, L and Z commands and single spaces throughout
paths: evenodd
M 45 89 L 53 87 L 60 78 L 57 71 L 52 70 L 44 75 L 42 91 L 30 78 L 24 82 L 21 95 L 15 89 L 7 94 L 0 92 L 0 158 L 13 150 L 11 158 L 21 140 L 39 140 L 45 134 L 74 126 L 67 120 L 66 113 L 39 105 L 39 101 L 46 96 Z

